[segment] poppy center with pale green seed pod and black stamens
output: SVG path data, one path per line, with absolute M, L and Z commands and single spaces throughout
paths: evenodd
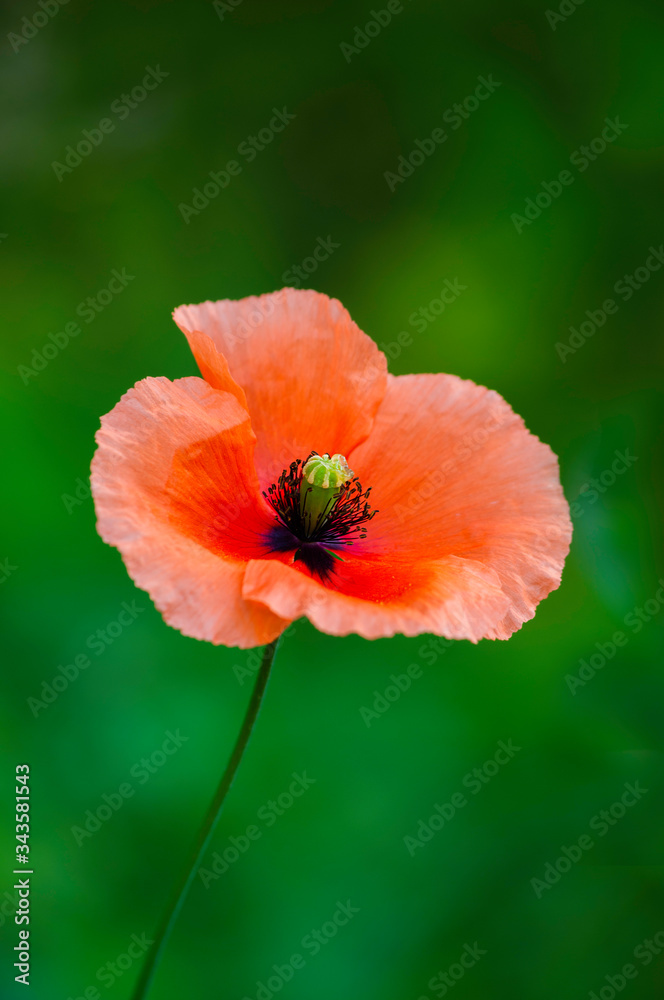
M 298 458 L 263 496 L 275 512 L 268 544 L 275 552 L 295 549 L 295 559 L 326 579 L 334 560 L 344 562 L 338 549 L 366 538 L 367 522 L 378 511 L 349 469 L 343 455 L 312 451 Z

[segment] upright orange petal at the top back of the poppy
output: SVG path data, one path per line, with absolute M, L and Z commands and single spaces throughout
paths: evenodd
M 197 331 L 207 334 L 244 390 L 263 489 L 310 451 L 348 455 L 371 430 L 385 393 L 385 356 L 336 299 L 280 292 L 173 313 L 205 374 Z M 207 375 L 206 375 L 207 378 Z

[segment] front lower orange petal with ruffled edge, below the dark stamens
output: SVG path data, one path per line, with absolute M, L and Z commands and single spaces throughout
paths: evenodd
M 434 632 L 477 642 L 509 605 L 496 575 L 471 560 L 344 559 L 334 589 L 299 564 L 252 560 L 242 592 L 282 618 L 305 615 L 321 632 L 365 639 Z

